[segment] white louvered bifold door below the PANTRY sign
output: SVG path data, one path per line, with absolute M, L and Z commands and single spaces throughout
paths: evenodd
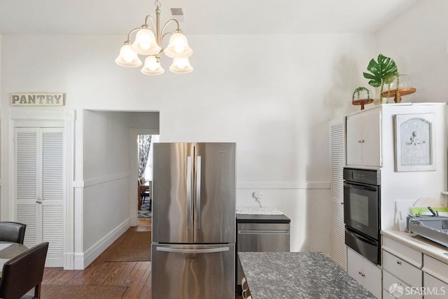
M 63 128 L 15 129 L 17 221 L 27 224 L 25 245 L 50 242 L 48 267 L 62 267 Z

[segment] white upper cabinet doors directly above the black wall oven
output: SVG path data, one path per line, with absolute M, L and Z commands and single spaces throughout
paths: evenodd
M 346 116 L 346 164 L 381 167 L 381 111 Z

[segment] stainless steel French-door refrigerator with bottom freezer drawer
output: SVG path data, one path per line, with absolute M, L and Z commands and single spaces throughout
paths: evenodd
M 153 299 L 235 299 L 235 150 L 154 144 Z

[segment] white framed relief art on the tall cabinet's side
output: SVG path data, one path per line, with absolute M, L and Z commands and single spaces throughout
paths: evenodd
M 395 115 L 395 172 L 435 170 L 435 113 Z

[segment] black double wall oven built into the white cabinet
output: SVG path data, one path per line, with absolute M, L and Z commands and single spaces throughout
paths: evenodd
M 345 167 L 343 178 L 345 244 L 381 265 L 381 172 Z

